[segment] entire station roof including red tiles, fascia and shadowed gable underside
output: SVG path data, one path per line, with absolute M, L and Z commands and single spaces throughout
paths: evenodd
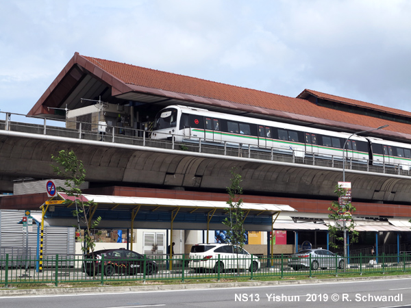
M 345 99 L 313 90 L 304 90 L 297 98 L 286 97 L 260 90 L 221 84 L 195 77 L 167 73 L 110 60 L 75 55 L 51 86 L 30 110 L 30 116 L 51 116 L 47 107 L 84 107 L 81 98 L 99 97 L 111 90 L 111 99 L 139 104 L 186 104 L 208 110 L 260 118 L 283 119 L 290 123 L 310 123 L 316 127 L 333 127 L 345 131 L 362 131 L 389 125 L 374 131 L 376 136 L 411 140 L 411 113 L 371 103 Z M 333 108 L 310 101 L 314 96 L 345 105 Z M 361 107 L 362 112 L 350 108 Z M 367 112 L 368 111 L 368 112 Z M 369 112 L 377 112 L 372 116 Z M 382 117 L 381 114 L 390 117 Z M 401 116 L 397 121 L 395 116 Z M 405 120 L 404 120 L 405 119 Z

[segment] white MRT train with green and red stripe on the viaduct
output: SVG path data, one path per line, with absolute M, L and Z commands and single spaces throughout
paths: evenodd
M 410 144 L 349 136 L 351 133 L 210 112 L 180 105 L 171 105 L 160 110 L 155 116 L 151 132 L 152 139 L 174 137 L 177 142 L 201 140 L 213 144 L 243 144 L 262 150 L 273 149 L 297 157 L 347 157 L 362 163 L 401 166 L 403 170 L 410 170 Z

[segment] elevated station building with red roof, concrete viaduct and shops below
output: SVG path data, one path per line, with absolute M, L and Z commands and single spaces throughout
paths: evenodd
M 140 212 L 144 215 L 135 214 L 134 225 L 129 222 L 133 214 L 122 216 L 114 211 L 113 203 L 101 212 L 106 219 L 101 229 L 108 230 L 102 242 L 107 244 L 101 246 L 112 244 L 114 230 L 123 229 L 127 233 L 123 237 L 125 242 L 129 241 L 129 233 L 135 232 L 132 238 L 139 253 L 164 253 L 170 242 L 178 243 L 177 253 L 187 253 L 191 244 L 212 242 L 214 238 L 219 240 L 220 232 L 216 231 L 223 227 L 219 215 L 208 221 L 209 211 L 200 211 L 201 206 L 194 203 L 227 201 L 230 171 L 236 168 L 242 175 L 242 198 L 250 210 L 264 205 L 287 207 L 282 211 L 267 210 L 268 218 L 264 219 L 270 221 L 258 222 L 258 213 L 250 216 L 247 223 L 252 244 L 247 250 L 265 252 L 271 236 L 265 232 L 267 228 L 273 234 L 277 231 L 278 239 L 285 238 L 276 243 L 273 253 L 292 253 L 306 241 L 316 247 L 327 246 L 327 225 L 332 223 L 328 208 L 336 199 L 336 184 L 343 180 L 338 159 L 323 165 L 313 159 L 313 166 L 308 166 L 307 162 L 293 164 L 294 161 L 278 157 L 276 162 L 273 162 L 275 159 L 267 162 L 247 156 L 250 151 L 243 149 L 243 145 L 231 149 L 238 153 L 236 157 L 221 157 L 213 156 L 212 152 L 198 153 L 201 151 L 198 145 L 192 151 L 185 151 L 185 148 L 191 149 L 192 144 L 179 144 L 178 149 L 172 144 L 170 148 L 172 141 L 167 141 L 162 153 L 138 148 L 141 142 L 144 146 L 151 142 L 155 115 L 170 105 L 347 134 L 366 131 L 366 136 L 389 142 L 409 144 L 411 141 L 411 113 L 403 110 L 308 89 L 297 97 L 285 97 L 75 53 L 27 116 L 60 120 L 64 122 L 67 136 L 75 132 L 83 137 L 77 142 L 64 139 L 66 137 L 60 140 L 42 138 L 34 142 L 28 141 L 36 139 L 27 135 L 30 131 L 15 136 L 1 135 L 3 144 L 10 144 L 9 148 L 3 146 L 0 152 L 7 158 L 0 163 L 3 164 L 0 168 L 3 170 L 1 191 L 13 193 L 16 179 L 54 179 L 49 167 L 50 155 L 61 149 L 73 149 L 86 167 L 88 188 L 84 194 L 101 198 L 101 204 L 108 204 L 102 196 L 163 198 L 177 200 L 180 205 L 184 201 L 193 203 L 186 207 L 186 214 L 183 214 L 183 206 L 151 205 L 144 213 Z M 3 131 L 10 126 L 6 120 Z M 18 162 L 14 161 L 16 158 L 12 153 L 16 146 L 23 152 L 32 151 L 33 155 L 22 155 Z M 182 149 L 184 151 L 179 151 Z M 411 160 L 411 157 L 406 158 Z M 18 168 L 13 170 L 10 166 Z M 404 166 L 384 168 L 382 173 L 364 169 L 364 166 L 355 170 L 348 163 L 343 166 L 346 180 L 351 182 L 352 201 L 357 209 L 354 219 L 360 230 L 360 242 L 351 246 L 353 251 L 369 253 L 374 245 L 385 253 L 411 250 L 408 248 L 411 244 L 411 224 L 408 222 L 411 217 L 411 177 L 409 168 Z M 1 197 L 0 209 L 38 209 L 46 200 L 45 192 L 27 191 Z M 150 203 L 138 202 L 145 206 Z M 158 209 L 160 214 L 155 216 L 153 213 Z M 128 205 L 123 208 L 127 213 L 133 210 L 135 207 Z M 189 217 L 187 213 L 190 211 L 201 212 L 201 215 Z M 279 215 L 273 218 L 274 214 Z M 49 212 L 47 219 L 55 219 L 56 224 L 68 224 L 70 219 L 65 215 L 57 210 Z M 110 215 L 115 217 L 111 219 Z M 64 219 L 67 222 L 63 223 Z M 271 227 L 273 219 L 275 223 Z M 173 228 L 177 231 L 171 232 L 169 222 L 174 222 Z M 258 227 L 259 223 L 264 227 Z

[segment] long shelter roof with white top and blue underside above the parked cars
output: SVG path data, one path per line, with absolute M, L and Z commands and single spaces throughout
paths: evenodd
M 227 196 L 228 199 L 228 196 Z M 65 201 L 72 201 L 66 203 Z M 76 198 L 58 192 L 55 197 L 45 202 L 54 205 L 47 210 L 47 219 L 54 225 L 73 225 L 73 208 Z M 147 198 L 138 196 L 111 196 L 83 194 L 81 201 L 93 201 L 90 218 L 100 217 L 99 229 L 121 226 L 139 229 L 190 229 L 219 230 L 221 222 L 227 218 L 226 201 L 201 201 L 173 198 Z M 283 211 L 295 212 L 289 205 L 266 203 L 242 203 L 245 229 L 253 231 L 271 231 L 273 216 Z

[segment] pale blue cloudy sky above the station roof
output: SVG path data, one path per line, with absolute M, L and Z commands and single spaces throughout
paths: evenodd
M 0 0 L 0 111 L 27 114 L 77 51 L 411 112 L 410 16 L 409 0 Z

